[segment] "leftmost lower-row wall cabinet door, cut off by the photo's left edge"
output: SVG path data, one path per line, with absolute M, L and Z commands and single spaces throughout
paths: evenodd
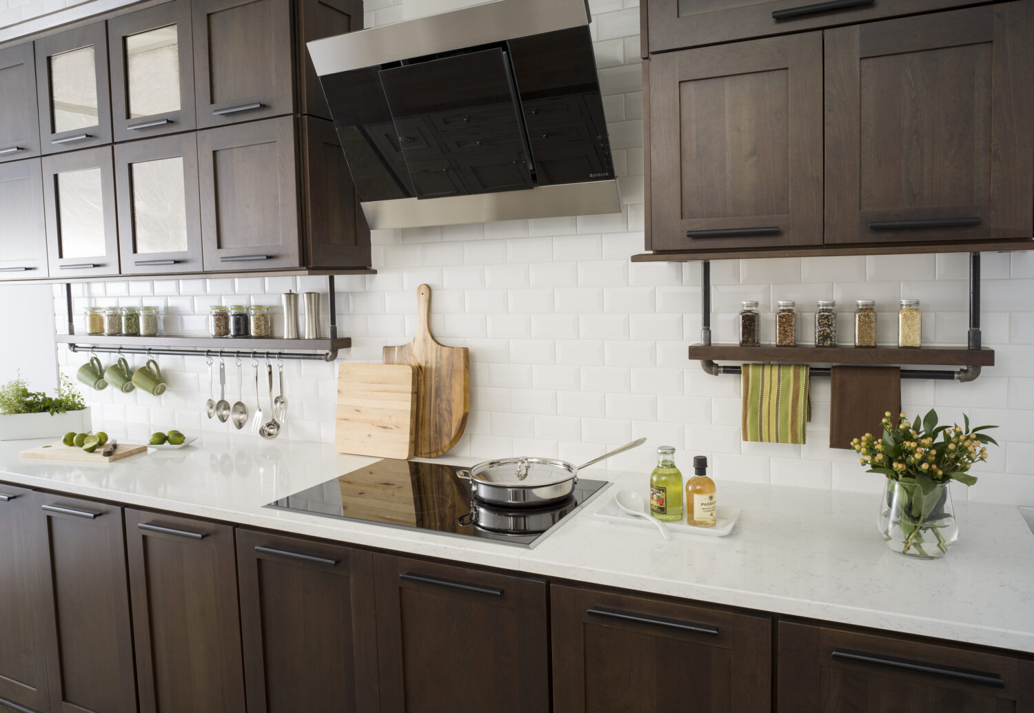
M 40 159 L 0 163 L 0 279 L 47 277 Z

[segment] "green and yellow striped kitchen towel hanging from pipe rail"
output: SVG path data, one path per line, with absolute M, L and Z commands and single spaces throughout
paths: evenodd
M 803 443 L 812 420 L 810 367 L 744 364 L 743 440 Z

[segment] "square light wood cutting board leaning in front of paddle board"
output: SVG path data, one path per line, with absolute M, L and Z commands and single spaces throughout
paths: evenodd
M 413 458 L 417 370 L 407 364 L 342 364 L 337 371 L 338 453 Z

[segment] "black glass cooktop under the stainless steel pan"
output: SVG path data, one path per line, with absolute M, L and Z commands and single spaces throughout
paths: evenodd
M 607 484 L 579 478 L 571 497 L 546 507 L 473 503 L 461 466 L 385 459 L 269 503 L 296 513 L 533 547 Z

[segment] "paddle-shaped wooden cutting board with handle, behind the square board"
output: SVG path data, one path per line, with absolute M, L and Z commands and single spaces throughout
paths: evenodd
M 434 458 L 456 445 L 470 411 L 470 350 L 443 346 L 431 336 L 431 288 L 417 288 L 420 323 L 413 341 L 384 348 L 385 364 L 409 364 L 417 374 L 417 450 Z

